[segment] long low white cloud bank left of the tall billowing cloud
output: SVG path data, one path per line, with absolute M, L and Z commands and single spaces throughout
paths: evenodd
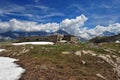
M 46 31 L 46 32 L 55 32 L 59 29 L 59 24 L 57 23 L 46 23 L 38 24 L 36 22 L 29 21 L 19 21 L 16 19 L 11 19 L 8 22 L 0 22 L 0 33 L 7 31 L 23 31 L 23 32 L 32 32 L 32 31 Z

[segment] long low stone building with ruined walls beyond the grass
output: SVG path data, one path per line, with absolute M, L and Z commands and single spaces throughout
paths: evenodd
M 29 36 L 20 37 L 17 42 L 33 42 L 33 41 L 47 41 L 47 42 L 76 42 L 78 39 L 73 35 L 51 35 L 51 36 Z

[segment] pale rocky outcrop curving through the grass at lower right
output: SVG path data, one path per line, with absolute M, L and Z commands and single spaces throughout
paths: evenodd
M 109 50 L 105 50 L 109 53 L 111 53 L 111 51 Z M 71 52 L 62 52 L 62 54 L 70 54 Z M 83 55 L 91 55 L 91 56 L 94 56 L 94 57 L 99 57 L 99 58 L 102 58 L 104 61 L 106 61 L 107 63 L 109 63 L 112 67 L 113 67 L 113 70 L 115 73 L 117 73 L 117 77 L 118 77 L 118 80 L 120 80 L 120 57 L 117 57 L 115 55 L 108 55 L 108 54 L 96 54 L 95 52 L 91 51 L 91 50 L 80 50 L 80 51 L 76 51 L 74 52 L 74 54 L 76 56 L 83 56 Z M 86 64 L 85 61 L 82 60 L 82 64 Z M 101 74 L 96 74 L 96 76 L 104 79 L 104 80 L 107 80 L 105 77 L 103 77 Z

